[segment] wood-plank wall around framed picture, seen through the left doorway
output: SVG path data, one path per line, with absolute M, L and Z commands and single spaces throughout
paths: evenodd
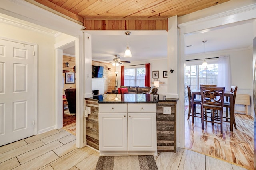
M 69 63 L 69 67 L 66 67 L 66 62 Z M 76 64 L 76 59 L 75 57 L 71 57 L 71 56 L 66 56 L 66 55 L 63 55 L 63 70 L 64 71 L 69 71 L 69 72 L 74 72 L 73 71 L 73 67 L 75 66 Z M 75 74 L 75 83 L 72 83 L 72 84 L 66 84 L 66 77 L 65 77 L 65 73 L 62 74 L 62 76 L 64 76 L 64 88 L 63 88 L 63 94 L 65 94 L 65 90 L 67 88 L 76 88 L 76 74 Z

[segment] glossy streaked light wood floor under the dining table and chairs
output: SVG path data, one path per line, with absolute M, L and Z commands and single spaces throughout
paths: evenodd
M 237 129 L 230 132 L 230 124 L 224 122 L 221 134 L 220 125 L 205 124 L 203 131 L 201 119 L 195 117 L 192 124 L 188 109 L 185 113 L 185 148 L 254 169 L 253 117 L 235 114 Z

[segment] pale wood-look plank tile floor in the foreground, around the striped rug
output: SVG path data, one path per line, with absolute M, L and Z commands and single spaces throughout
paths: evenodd
M 98 158 L 96 150 L 76 148 L 75 135 L 64 129 L 48 131 L 0 147 L 1 170 L 94 170 Z M 245 170 L 180 148 L 176 153 L 160 153 L 155 160 L 159 170 Z

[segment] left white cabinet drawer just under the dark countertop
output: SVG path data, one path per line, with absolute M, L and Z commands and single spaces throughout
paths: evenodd
M 99 113 L 127 113 L 127 104 L 99 104 Z

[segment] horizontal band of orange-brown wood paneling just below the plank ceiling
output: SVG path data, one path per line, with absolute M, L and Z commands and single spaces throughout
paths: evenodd
M 93 20 L 84 18 L 86 30 L 168 30 L 168 19 Z

